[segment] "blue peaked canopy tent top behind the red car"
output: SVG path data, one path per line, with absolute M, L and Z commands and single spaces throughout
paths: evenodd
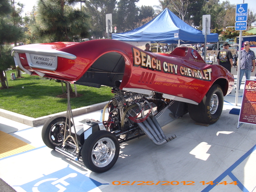
M 183 22 L 173 12 L 164 9 L 150 22 L 134 30 L 112 34 L 112 39 L 121 41 L 150 41 L 150 43 L 204 43 L 202 31 Z M 218 34 L 207 35 L 207 42 L 217 42 Z

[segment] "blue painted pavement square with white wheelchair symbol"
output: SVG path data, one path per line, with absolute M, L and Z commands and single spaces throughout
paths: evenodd
M 79 192 L 90 191 L 101 185 L 109 185 L 109 183 L 98 182 L 67 167 L 19 187 L 27 192 Z

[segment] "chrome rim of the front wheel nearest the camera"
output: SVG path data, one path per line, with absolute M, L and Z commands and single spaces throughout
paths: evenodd
M 104 137 L 97 141 L 92 149 L 92 162 L 102 168 L 110 164 L 115 156 L 115 144 L 112 139 Z

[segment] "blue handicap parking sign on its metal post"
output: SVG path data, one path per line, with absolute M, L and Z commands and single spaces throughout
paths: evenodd
M 242 47 L 242 31 L 247 28 L 247 3 L 237 4 L 236 6 L 236 26 L 235 30 L 240 31 L 239 35 L 239 52 L 238 52 L 238 65 L 237 65 L 237 91 L 236 91 L 236 100 L 235 105 L 237 106 L 238 100 L 238 89 L 240 87 L 239 84 L 239 76 L 240 76 L 240 56 L 241 56 L 241 47 Z

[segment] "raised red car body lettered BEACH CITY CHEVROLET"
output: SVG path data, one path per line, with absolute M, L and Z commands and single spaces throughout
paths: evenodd
M 192 48 L 150 53 L 117 40 L 57 42 L 13 48 L 16 65 L 30 75 L 122 90 L 198 104 L 213 84 L 229 94 L 234 78 L 220 65 L 206 64 Z

